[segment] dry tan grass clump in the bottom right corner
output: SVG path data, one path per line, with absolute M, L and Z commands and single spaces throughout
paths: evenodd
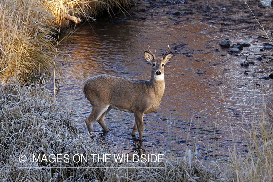
M 235 153 L 231 155 L 230 172 L 235 181 L 267 181 L 273 182 L 273 132 L 261 119 L 253 122 L 247 133 L 248 152 L 245 157 Z

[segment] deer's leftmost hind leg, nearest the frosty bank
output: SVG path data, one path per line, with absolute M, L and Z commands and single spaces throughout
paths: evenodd
M 86 118 L 85 123 L 88 128 L 88 131 L 91 132 L 91 138 L 94 138 L 93 125 L 94 123 L 108 110 L 109 105 L 105 105 L 104 107 L 96 107 L 93 106 L 91 114 Z M 109 112 L 109 111 L 108 111 Z M 105 117 L 105 116 L 104 116 Z M 103 119 L 104 119 L 103 117 Z M 104 123 L 104 122 L 103 122 Z M 105 124 L 104 124 L 105 126 Z M 106 127 L 106 126 L 105 126 Z M 107 128 L 107 127 L 106 127 Z

